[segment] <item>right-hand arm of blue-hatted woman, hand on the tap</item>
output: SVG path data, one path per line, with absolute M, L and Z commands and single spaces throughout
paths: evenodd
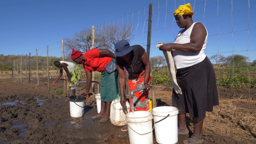
M 150 62 L 148 60 L 148 56 L 146 52 L 143 53 L 143 55 L 140 57 L 142 60 L 142 63 L 145 65 L 145 79 L 144 79 L 144 86 L 146 87 L 146 90 L 150 90 L 149 77 L 150 77 Z

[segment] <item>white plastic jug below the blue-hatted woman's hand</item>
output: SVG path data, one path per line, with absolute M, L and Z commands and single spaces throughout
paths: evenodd
M 130 104 L 126 101 L 126 108 L 120 104 L 120 98 L 113 100 L 110 105 L 110 122 L 114 126 L 125 126 L 125 116 L 130 112 Z

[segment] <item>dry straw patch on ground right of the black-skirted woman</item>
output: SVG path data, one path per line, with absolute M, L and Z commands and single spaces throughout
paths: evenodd
M 203 134 L 217 134 L 231 136 L 238 139 L 255 140 L 256 113 L 238 106 L 248 103 L 248 100 L 232 99 L 219 100 L 220 105 L 214 107 L 213 112 L 206 113 Z M 255 101 L 250 104 L 256 105 Z M 191 130 L 192 130 L 191 126 Z

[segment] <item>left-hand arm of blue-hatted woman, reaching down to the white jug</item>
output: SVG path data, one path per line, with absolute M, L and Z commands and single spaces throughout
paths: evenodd
M 120 65 L 117 65 L 117 70 L 118 70 L 118 73 L 119 73 L 119 86 L 120 86 L 120 104 L 123 108 L 126 107 L 126 100 L 124 98 L 124 90 L 125 90 L 125 84 L 126 84 L 126 81 L 125 81 L 125 74 L 124 74 L 124 67 L 123 66 L 120 66 Z

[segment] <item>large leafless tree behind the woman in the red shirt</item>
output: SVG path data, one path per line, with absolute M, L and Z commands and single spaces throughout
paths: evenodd
M 132 24 L 102 25 L 95 28 L 94 47 L 114 51 L 114 45 L 122 39 L 130 41 L 133 38 Z M 87 28 L 64 39 L 65 53 L 70 54 L 72 48 L 87 52 L 92 47 L 92 30 Z

